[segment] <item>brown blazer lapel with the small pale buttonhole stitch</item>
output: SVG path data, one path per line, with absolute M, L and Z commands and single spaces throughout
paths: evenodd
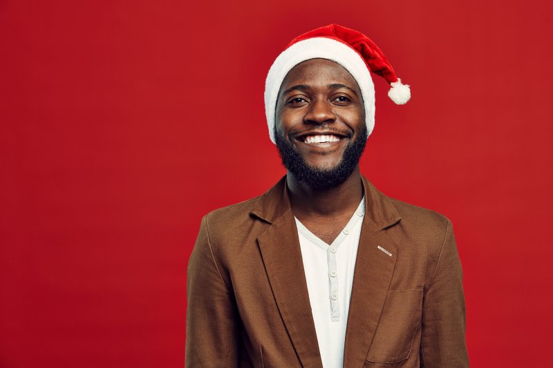
M 398 246 L 384 229 L 401 217 L 387 197 L 365 178 L 363 220 L 346 328 L 344 367 L 363 367 L 392 280 Z M 378 249 L 382 247 L 391 255 Z

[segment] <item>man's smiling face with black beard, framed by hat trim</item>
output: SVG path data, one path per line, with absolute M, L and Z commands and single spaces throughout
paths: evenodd
M 287 170 L 311 188 L 332 188 L 353 173 L 366 144 L 361 91 L 334 61 L 311 59 L 286 75 L 274 136 Z

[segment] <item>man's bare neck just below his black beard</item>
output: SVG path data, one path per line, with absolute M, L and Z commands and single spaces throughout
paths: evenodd
M 292 213 L 301 220 L 305 217 L 332 218 L 350 216 L 357 209 L 363 197 L 363 184 L 359 166 L 345 182 L 330 189 L 313 189 L 295 180 L 288 173 L 286 177 Z

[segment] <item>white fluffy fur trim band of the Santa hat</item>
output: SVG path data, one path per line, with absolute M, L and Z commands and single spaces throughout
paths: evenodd
M 365 107 L 365 122 L 368 135 L 375 126 L 375 86 L 362 57 L 353 48 L 327 37 L 313 37 L 298 41 L 284 50 L 272 64 L 265 80 L 265 115 L 269 136 L 274 143 L 274 118 L 281 84 L 288 72 L 302 61 L 310 59 L 335 61 L 357 81 Z

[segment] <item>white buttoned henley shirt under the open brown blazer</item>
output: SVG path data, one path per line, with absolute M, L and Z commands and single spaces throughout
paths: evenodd
M 296 219 L 311 313 L 324 368 L 344 365 L 351 285 L 364 215 L 363 197 L 344 230 L 330 245 Z

